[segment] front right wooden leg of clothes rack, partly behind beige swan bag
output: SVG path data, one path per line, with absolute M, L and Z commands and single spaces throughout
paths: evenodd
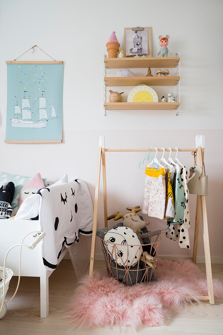
M 203 137 L 203 139 L 202 139 Z M 203 168 L 203 157 L 202 157 L 202 148 L 204 148 L 204 136 L 201 135 L 201 140 L 199 145 L 197 145 L 197 154 L 198 154 L 198 164 Z M 203 172 L 201 174 L 203 177 Z M 210 254 L 210 245 L 209 245 L 209 235 L 208 235 L 208 219 L 207 219 L 207 208 L 205 196 L 200 196 L 201 200 L 201 215 L 203 222 L 203 239 L 204 239 L 204 251 L 205 251 L 205 266 L 206 266 L 206 276 L 207 276 L 207 286 L 208 286 L 208 295 L 209 303 L 214 304 L 214 292 L 213 292 L 213 281 L 212 281 L 212 270 L 211 270 L 211 254 Z

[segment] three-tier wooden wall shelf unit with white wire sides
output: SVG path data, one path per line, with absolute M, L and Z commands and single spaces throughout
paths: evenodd
M 107 77 L 107 69 L 131 69 L 131 68 L 176 68 L 176 76 L 153 76 L 153 77 Z M 109 103 L 106 97 L 108 86 L 137 86 L 145 84 L 148 86 L 176 86 L 176 102 L 172 103 Z M 103 108 L 106 111 L 123 110 L 175 110 L 176 115 L 180 106 L 180 54 L 176 57 L 138 57 L 138 58 L 106 58 L 104 56 L 103 76 Z

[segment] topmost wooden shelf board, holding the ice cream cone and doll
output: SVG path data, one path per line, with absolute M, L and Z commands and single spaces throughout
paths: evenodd
M 170 68 L 176 67 L 179 57 L 139 57 L 139 58 L 104 58 L 104 65 L 108 69 L 128 68 Z

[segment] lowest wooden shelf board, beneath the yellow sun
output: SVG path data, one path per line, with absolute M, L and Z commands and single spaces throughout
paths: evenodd
M 104 103 L 104 108 L 110 111 L 123 110 L 170 110 L 177 109 L 180 103 Z

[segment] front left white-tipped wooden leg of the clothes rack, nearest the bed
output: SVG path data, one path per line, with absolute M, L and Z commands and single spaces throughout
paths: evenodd
M 100 174 L 101 174 L 101 140 L 102 140 L 102 138 L 100 136 L 99 147 L 98 147 L 98 157 L 97 157 L 97 178 L 96 178 L 95 196 L 94 196 L 94 217 L 93 217 L 90 271 L 89 271 L 89 276 L 90 277 L 93 274 L 94 258 L 95 258 L 95 244 L 96 244 L 97 216 L 98 216 L 98 197 L 99 197 Z

